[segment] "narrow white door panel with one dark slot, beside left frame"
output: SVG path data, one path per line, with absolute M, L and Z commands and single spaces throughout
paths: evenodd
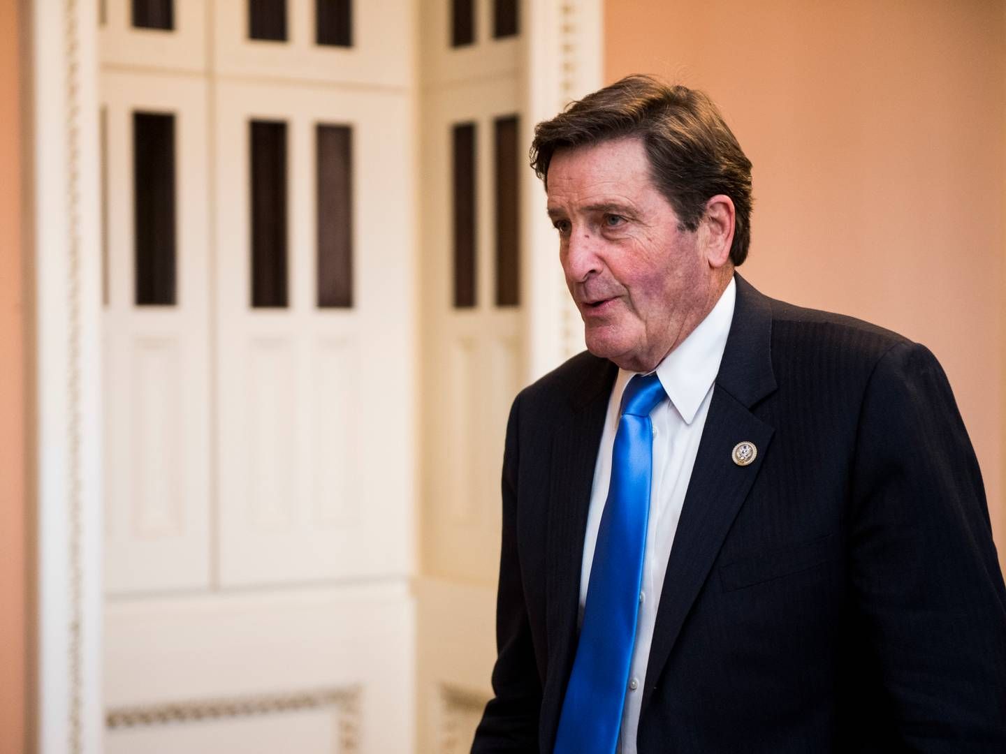
M 111 594 L 205 588 L 210 579 L 209 249 L 206 84 L 103 74 L 107 291 L 106 584 Z M 174 123 L 174 304 L 137 305 L 143 162 L 135 114 Z M 163 149 L 162 145 L 158 145 Z M 163 156 L 161 156 L 163 157 Z M 162 176 L 167 179 L 168 176 Z

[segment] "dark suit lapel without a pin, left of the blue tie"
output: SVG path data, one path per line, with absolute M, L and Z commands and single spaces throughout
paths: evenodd
M 576 650 L 576 615 L 591 488 L 612 384 L 618 369 L 598 359 L 571 394 L 569 423 L 553 434 L 546 558 L 547 685 L 542 730 L 554 736 Z

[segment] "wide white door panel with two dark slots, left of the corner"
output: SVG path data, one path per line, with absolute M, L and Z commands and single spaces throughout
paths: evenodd
M 407 573 L 412 245 L 406 101 L 217 88 L 220 579 Z M 249 123 L 287 124 L 289 306 L 254 308 Z M 352 129 L 353 306 L 320 308 L 316 126 Z

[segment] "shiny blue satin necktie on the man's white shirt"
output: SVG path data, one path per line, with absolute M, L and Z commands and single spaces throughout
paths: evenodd
M 650 411 L 665 395 L 656 374 L 636 375 L 622 395 L 612 480 L 598 528 L 583 625 L 562 700 L 554 754 L 612 754 L 618 744 L 636 641 L 650 513 Z

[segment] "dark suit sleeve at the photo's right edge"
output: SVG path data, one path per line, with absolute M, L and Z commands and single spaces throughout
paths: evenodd
M 1006 590 L 981 473 L 917 344 L 870 377 L 851 493 L 852 596 L 898 748 L 1006 751 Z

